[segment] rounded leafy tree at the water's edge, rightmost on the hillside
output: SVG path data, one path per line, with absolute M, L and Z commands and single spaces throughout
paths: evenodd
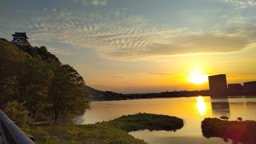
M 89 94 L 80 74 L 70 65 L 61 66 L 52 80 L 49 97 L 54 122 L 59 118 L 74 118 L 90 108 Z

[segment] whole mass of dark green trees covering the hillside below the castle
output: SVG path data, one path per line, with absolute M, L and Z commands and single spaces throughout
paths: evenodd
M 85 82 L 76 70 L 62 65 L 46 46 L 15 46 L 0 38 L 0 108 L 24 103 L 33 121 L 74 118 L 89 108 Z

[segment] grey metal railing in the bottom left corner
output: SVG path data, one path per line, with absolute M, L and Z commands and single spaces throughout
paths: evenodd
M 0 144 L 34 144 L 34 142 L 0 110 Z

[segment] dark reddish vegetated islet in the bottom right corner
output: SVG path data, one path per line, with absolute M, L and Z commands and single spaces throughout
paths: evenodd
M 204 137 L 219 137 L 226 142 L 231 139 L 234 143 L 255 143 L 255 130 L 255 121 L 225 121 L 218 118 L 205 118 L 202 121 L 202 134 Z

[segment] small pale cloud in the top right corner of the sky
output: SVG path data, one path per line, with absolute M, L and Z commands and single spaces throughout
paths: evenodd
M 228 3 L 232 4 L 233 6 L 238 6 L 240 8 L 256 6 L 255 0 L 225 0 L 225 2 L 228 2 Z

